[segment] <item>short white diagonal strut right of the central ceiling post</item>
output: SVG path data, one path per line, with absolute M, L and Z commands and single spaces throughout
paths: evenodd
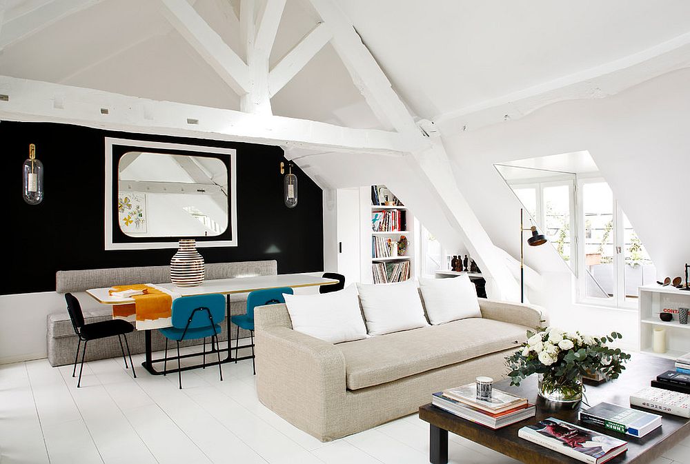
M 333 32 L 324 23 L 319 23 L 302 41 L 297 43 L 268 73 L 270 96 L 277 94 L 285 85 L 311 61 L 333 37 Z

